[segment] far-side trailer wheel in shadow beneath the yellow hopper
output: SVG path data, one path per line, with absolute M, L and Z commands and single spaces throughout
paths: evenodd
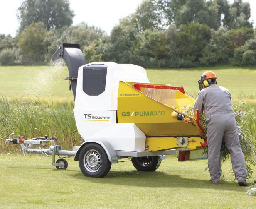
M 138 171 L 155 171 L 161 164 L 162 159 L 159 156 L 133 157 L 132 163 Z

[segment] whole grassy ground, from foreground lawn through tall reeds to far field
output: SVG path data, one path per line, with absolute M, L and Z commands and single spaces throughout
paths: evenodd
M 256 67 L 149 69 L 147 73 L 152 83 L 184 86 L 196 96 L 197 80 L 205 69 L 216 72 L 218 84 L 231 91 L 233 100 L 246 101 L 246 108 L 254 108 L 256 113 Z M 28 155 L 24 159 L 19 146 L 3 145 L 10 132 L 28 137 L 57 135 L 66 148 L 80 141 L 72 113 L 73 96 L 64 81 L 67 76 L 66 67 L 0 67 L 1 209 L 256 207 L 255 197 L 236 185 L 230 161 L 222 166 L 228 181 L 222 180 L 220 185 L 209 183 L 209 172 L 204 171 L 207 161 L 180 163 L 175 156 L 163 160 L 155 172 L 139 172 L 131 162 L 120 162 L 112 165 L 105 178 L 87 178 L 74 159 L 68 159 L 69 168 L 60 171 L 51 166 L 50 158 Z M 255 120 L 249 125 L 256 130 Z

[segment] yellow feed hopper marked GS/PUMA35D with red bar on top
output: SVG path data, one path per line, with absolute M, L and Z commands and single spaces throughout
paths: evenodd
M 135 123 L 146 135 L 147 151 L 202 148 L 202 127 L 198 120 L 182 113 L 182 108 L 192 106 L 194 101 L 183 87 L 121 81 L 118 123 Z

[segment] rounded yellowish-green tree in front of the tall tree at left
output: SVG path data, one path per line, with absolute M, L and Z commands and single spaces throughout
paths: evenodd
M 23 53 L 23 62 L 26 64 L 36 64 L 44 62 L 46 45 L 44 38 L 47 30 L 42 22 L 32 23 L 27 26 L 18 37 L 17 45 Z

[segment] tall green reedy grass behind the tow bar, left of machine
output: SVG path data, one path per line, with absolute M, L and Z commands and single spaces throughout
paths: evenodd
M 14 146 L 4 143 L 12 132 L 16 137 L 56 136 L 65 149 L 79 145 L 73 108 L 72 101 L 0 98 L 0 150 L 14 150 Z

